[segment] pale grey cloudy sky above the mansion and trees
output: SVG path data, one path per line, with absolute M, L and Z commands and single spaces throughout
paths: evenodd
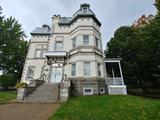
M 132 25 L 143 14 L 156 14 L 154 0 L 0 0 L 3 15 L 15 17 L 27 34 L 43 24 L 51 25 L 53 15 L 72 16 L 80 4 L 89 3 L 91 10 L 102 23 L 102 43 L 113 37 L 117 28 Z

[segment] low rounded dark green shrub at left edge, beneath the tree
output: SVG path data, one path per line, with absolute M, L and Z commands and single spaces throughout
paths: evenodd
M 4 89 L 14 87 L 15 84 L 16 81 L 14 80 L 14 77 L 12 75 L 5 74 L 0 76 L 0 86 L 2 86 Z

